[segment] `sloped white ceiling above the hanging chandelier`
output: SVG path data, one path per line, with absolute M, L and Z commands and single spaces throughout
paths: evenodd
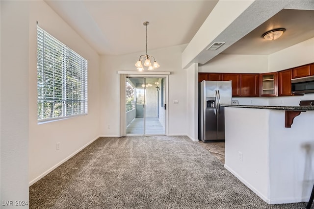
M 45 0 L 99 54 L 188 44 L 218 0 Z

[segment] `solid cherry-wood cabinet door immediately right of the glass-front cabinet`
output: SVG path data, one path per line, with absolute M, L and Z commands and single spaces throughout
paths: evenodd
M 279 71 L 279 96 L 291 96 L 292 69 Z

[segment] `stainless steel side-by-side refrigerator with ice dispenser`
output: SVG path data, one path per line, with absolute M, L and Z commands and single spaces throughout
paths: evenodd
M 225 139 L 225 110 L 232 103 L 232 81 L 202 81 L 199 89 L 199 139 Z

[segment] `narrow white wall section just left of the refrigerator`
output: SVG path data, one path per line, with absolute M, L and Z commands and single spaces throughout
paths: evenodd
M 188 67 L 186 74 L 187 136 L 198 141 L 198 64 Z

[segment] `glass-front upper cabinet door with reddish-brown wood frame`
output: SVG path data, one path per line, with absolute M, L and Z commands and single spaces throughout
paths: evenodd
M 260 74 L 260 95 L 261 96 L 277 96 L 277 88 L 278 88 L 278 73 L 270 72 L 270 73 L 262 73 Z

